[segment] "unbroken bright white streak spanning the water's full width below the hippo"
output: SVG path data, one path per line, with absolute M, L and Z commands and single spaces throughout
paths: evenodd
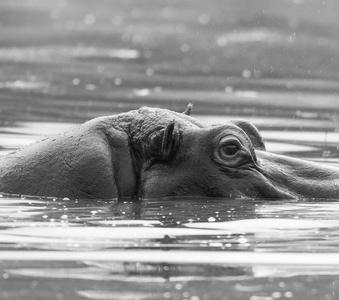
M 3 261 L 115 261 L 242 266 L 337 267 L 339 253 L 260 253 L 229 251 L 1 251 Z

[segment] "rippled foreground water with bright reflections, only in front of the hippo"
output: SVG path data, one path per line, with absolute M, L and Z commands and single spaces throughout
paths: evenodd
M 337 202 L 3 194 L 0 211 L 2 299 L 312 299 L 303 294 L 310 287 L 323 299 L 337 292 Z

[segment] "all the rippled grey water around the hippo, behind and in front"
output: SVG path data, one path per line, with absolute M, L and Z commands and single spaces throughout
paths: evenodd
M 336 0 L 2 0 L 0 153 L 142 105 L 339 166 Z M 0 299 L 339 299 L 339 205 L 3 193 Z

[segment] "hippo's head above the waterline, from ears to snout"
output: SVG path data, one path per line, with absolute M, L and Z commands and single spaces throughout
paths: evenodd
M 338 169 L 266 152 L 259 131 L 250 122 L 207 124 L 149 108 L 140 113 L 146 119 L 158 119 L 158 126 L 142 131 L 139 150 L 135 151 L 140 162 L 139 198 L 339 195 Z

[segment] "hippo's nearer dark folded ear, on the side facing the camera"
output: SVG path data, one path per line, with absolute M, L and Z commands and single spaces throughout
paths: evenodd
M 166 128 L 152 132 L 147 139 L 144 151 L 149 159 L 165 161 L 171 159 L 182 140 L 182 133 L 173 121 Z

